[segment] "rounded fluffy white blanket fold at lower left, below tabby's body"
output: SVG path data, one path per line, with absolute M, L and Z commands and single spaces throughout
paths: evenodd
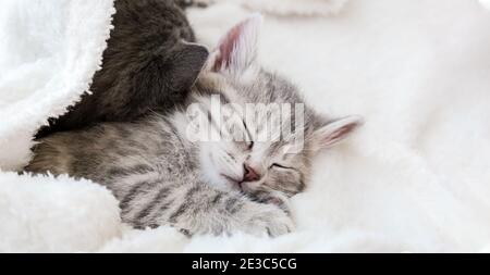
M 88 180 L 4 173 L 0 209 L 0 252 L 94 251 L 122 236 L 115 198 Z

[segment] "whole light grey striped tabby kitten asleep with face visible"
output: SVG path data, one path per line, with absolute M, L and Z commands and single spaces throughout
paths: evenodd
M 306 188 L 311 158 L 344 139 L 360 120 L 329 121 L 299 108 L 283 112 L 280 126 L 293 130 L 279 133 L 266 127 L 275 120 L 272 109 L 245 117 L 240 109 L 250 103 L 303 103 L 292 84 L 258 65 L 260 25 L 261 17 L 253 16 L 229 32 L 182 110 L 54 134 L 40 140 L 26 171 L 107 186 L 120 201 L 123 221 L 136 228 L 171 225 L 191 235 L 291 232 L 287 198 Z

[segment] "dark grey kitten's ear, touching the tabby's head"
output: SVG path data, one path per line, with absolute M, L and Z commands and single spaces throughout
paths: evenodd
M 167 62 L 172 90 L 182 91 L 191 88 L 197 80 L 209 58 L 206 47 L 182 41 Z

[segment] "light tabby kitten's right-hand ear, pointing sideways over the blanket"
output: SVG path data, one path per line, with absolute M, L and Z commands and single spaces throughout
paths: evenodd
M 315 150 L 328 149 L 347 138 L 364 124 L 360 116 L 352 115 L 320 127 L 314 133 Z

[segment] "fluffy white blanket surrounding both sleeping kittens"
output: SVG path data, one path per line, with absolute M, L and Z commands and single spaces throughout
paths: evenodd
M 290 12 L 322 0 L 289 0 L 278 14 L 269 1 L 222 0 L 189 15 L 212 45 L 252 8 L 272 12 L 264 63 L 318 110 L 367 121 L 316 161 L 308 191 L 293 200 L 296 233 L 189 240 L 133 230 L 98 185 L 4 172 L 0 251 L 488 251 L 490 12 L 468 0 L 356 0 L 329 17 Z M 112 12 L 111 0 L 0 1 L 3 171 L 28 161 L 36 128 L 88 87 Z

